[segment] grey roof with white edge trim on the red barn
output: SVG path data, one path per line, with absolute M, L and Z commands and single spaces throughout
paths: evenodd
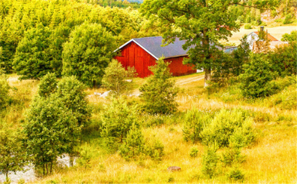
M 189 51 L 189 48 L 187 50 L 184 50 L 182 47 L 186 43 L 185 40 L 176 38 L 174 43 L 161 47 L 162 39 L 162 36 L 134 38 L 126 42 L 124 45 L 120 46 L 117 50 L 122 49 L 131 42 L 134 42 L 156 59 L 159 59 L 160 57 L 162 57 L 162 55 L 165 58 L 188 55 L 187 52 Z

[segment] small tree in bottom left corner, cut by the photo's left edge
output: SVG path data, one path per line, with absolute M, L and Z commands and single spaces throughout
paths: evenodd
M 20 134 L 0 124 L 0 171 L 6 180 L 9 171 L 21 171 L 27 164 L 25 150 Z

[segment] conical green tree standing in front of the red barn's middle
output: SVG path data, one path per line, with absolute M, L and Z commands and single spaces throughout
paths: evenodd
M 142 92 L 140 98 L 144 102 L 143 108 L 149 113 L 168 114 L 177 110 L 175 97 L 178 89 L 174 87 L 174 81 L 169 79 L 172 77 L 169 72 L 168 65 L 163 58 L 156 61 L 155 66 L 149 67 L 154 75 L 150 76 L 146 83 L 139 88 Z

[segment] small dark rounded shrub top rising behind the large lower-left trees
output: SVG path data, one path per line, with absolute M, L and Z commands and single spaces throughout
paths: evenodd
M 57 79 L 54 73 L 48 73 L 43 76 L 39 83 L 38 95 L 41 97 L 48 97 L 57 89 Z

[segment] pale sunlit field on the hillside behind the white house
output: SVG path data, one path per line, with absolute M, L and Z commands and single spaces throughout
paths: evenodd
M 236 45 L 240 44 L 240 39 L 244 34 L 249 34 L 253 31 L 259 31 L 260 26 L 255 26 L 255 29 L 244 29 L 243 26 L 240 28 L 239 32 L 232 32 L 232 36 L 229 38 L 229 42 L 235 43 Z M 280 40 L 282 35 L 285 33 L 291 33 L 293 30 L 297 30 L 296 26 L 277 26 L 277 27 L 264 27 L 265 31 L 268 29 L 268 33 L 270 33 L 273 37 Z

